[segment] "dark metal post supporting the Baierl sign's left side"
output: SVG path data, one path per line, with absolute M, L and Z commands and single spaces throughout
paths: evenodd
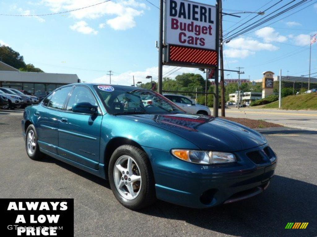
M 158 73 L 158 93 L 162 94 L 163 83 L 163 7 L 164 0 L 159 1 L 159 73 Z

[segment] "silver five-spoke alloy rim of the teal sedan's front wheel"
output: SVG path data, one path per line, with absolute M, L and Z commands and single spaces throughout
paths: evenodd
M 141 173 L 135 160 L 128 155 L 120 156 L 113 168 L 113 178 L 120 195 L 132 200 L 141 190 Z

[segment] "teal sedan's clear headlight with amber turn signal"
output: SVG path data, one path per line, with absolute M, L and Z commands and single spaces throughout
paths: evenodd
M 183 149 L 172 149 L 171 152 L 181 160 L 197 164 L 223 164 L 236 162 L 236 156 L 228 152 Z

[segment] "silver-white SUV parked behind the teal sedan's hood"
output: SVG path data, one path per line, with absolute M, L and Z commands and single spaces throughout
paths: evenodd
M 207 106 L 196 104 L 194 100 L 191 100 L 191 97 L 179 95 L 179 94 L 163 94 L 167 99 L 173 101 L 179 107 L 184 109 L 188 113 L 197 113 L 210 115 L 210 109 Z

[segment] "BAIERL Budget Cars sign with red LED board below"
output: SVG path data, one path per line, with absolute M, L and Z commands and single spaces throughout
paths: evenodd
M 185 0 L 165 1 L 165 64 L 217 65 L 216 7 Z

